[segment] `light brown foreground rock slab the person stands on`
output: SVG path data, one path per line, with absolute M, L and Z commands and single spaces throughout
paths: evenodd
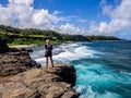
M 78 98 L 79 93 L 71 86 L 75 77 L 72 65 L 32 69 L 15 76 L 1 77 L 0 98 Z

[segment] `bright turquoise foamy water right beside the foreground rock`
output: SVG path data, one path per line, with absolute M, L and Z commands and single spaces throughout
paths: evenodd
M 75 68 L 78 73 L 81 73 L 78 74 L 78 85 L 75 86 L 76 91 L 82 94 L 80 98 L 121 98 L 119 94 L 106 90 L 115 87 L 115 83 L 119 82 L 119 75 L 104 69 L 100 64 L 92 63 L 86 66 L 79 64 Z M 100 75 L 96 70 L 100 71 Z M 105 89 L 105 93 L 96 91 L 99 89 Z

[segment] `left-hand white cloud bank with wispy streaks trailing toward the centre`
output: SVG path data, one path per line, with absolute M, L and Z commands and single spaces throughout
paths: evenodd
M 80 34 L 83 30 L 73 24 L 62 24 L 59 22 L 69 22 L 75 16 L 58 16 L 61 12 L 49 13 L 45 9 L 34 9 L 34 0 L 9 0 L 7 7 L 0 5 L 0 23 L 21 28 L 40 28 L 53 29 L 59 33 Z

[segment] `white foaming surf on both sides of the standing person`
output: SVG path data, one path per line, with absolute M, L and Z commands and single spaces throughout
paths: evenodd
M 72 60 L 80 60 L 84 58 L 95 58 L 95 53 L 97 51 L 90 49 L 86 46 L 82 46 L 81 44 L 63 44 L 53 49 L 53 53 L 58 50 L 64 50 L 58 54 L 55 54 L 52 58 L 55 62 L 70 62 Z M 45 63 L 44 50 L 34 51 L 35 53 L 32 57 L 39 63 Z

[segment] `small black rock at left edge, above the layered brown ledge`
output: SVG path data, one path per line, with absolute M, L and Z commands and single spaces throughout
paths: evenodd
M 10 49 L 7 45 L 7 40 L 3 38 L 0 38 L 0 53 L 8 52 Z

